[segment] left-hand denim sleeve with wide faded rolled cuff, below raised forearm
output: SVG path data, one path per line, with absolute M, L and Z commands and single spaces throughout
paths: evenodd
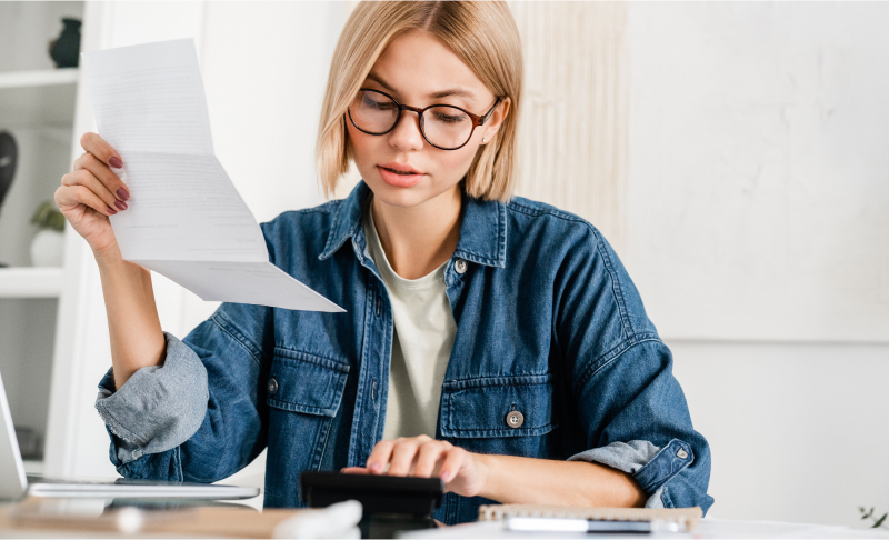
M 262 452 L 271 313 L 266 307 L 223 303 L 182 341 L 168 338 L 163 367 L 133 376 L 117 392 L 110 373 L 102 379 L 97 408 L 121 476 L 209 483 Z

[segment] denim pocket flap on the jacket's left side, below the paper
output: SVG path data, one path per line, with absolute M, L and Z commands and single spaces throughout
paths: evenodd
M 284 411 L 333 417 L 348 374 L 344 362 L 276 347 L 267 403 Z

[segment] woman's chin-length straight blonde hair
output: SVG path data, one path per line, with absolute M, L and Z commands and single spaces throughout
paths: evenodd
M 521 41 L 503 0 L 363 0 L 346 22 L 327 81 L 318 126 L 318 174 L 330 199 L 349 171 L 346 111 L 377 59 L 397 37 L 422 30 L 443 41 L 498 97 L 511 100 L 493 138 L 466 174 L 470 197 L 507 200 L 516 170 L 522 90 Z

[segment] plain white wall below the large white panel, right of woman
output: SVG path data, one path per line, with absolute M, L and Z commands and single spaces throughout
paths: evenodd
M 713 452 L 710 516 L 861 526 L 889 510 L 889 347 L 668 340 Z

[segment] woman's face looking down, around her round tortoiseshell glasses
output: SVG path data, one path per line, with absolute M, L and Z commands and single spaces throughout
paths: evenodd
M 496 100 L 457 54 L 422 31 L 392 41 L 362 88 L 386 92 L 401 104 L 450 104 L 479 116 L 488 112 Z M 458 150 L 430 146 L 412 111 L 403 111 L 396 128 L 382 136 L 360 131 L 348 116 L 346 126 L 358 171 L 374 197 L 386 204 L 416 207 L 458 189 L 482 139 L 491 140 L 508 110 L 509 100 L 501 101 L 488 122 L 477 127 L 469 142 Z

